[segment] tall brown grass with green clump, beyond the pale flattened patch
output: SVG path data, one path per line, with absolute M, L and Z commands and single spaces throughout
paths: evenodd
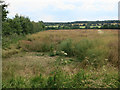
M 96 67 L 101 66 L 106 59 L 112 62 L 116 59 L 117 55 L 113 51 L 117 46 L 112 45 L 112 47 L 109 44 L 109 42 L 117 42 L 115 34 L 117 35 L 116 31 L 104 31 L 103 34 L 92 30 L 46 31 L 28 36 L 26 41 L 20 42 L 20 47 L 25 51 L 51 52 L 51 56 L 54 51 L 63 51 L 66 56 L 75 57 L 81 62 L 89 58 L 89 62 L 96 63 L 94 65 Z M 58 53 L 58 55 L 61 54 Z M 115 61 L 117 64 L 117 60 Z

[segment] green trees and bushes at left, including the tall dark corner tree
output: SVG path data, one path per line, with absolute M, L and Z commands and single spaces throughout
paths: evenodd
M 7 49 L 11 44 L 25 39 L 27 34 L 36 33 L 45 30 L 42 21 L 34 22 L 29 17 L 16 14 L 13 18 L 8 18 L 8 5 L 0 0 L 2 7 L 2 48 Z

